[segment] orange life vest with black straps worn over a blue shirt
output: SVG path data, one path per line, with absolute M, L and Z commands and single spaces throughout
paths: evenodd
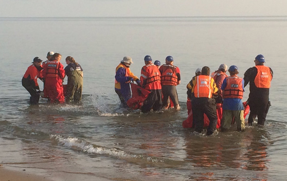
M 226 87 L 224 89 L 223 98 L 243 99 L 242 78 L 237 76 L 226 78 Z

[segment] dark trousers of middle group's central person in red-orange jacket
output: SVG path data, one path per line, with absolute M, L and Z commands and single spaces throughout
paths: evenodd
M 161 110 L 161 89 L 149 90 L 148 97 L 143 101 L 142 112 L 147 113 L 151 109 L 154 111 Z

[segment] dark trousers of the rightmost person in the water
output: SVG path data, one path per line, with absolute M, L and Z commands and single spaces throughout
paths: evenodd
M 258 124 L 264 126 L 266 116 L 269 110 L 269 94 L 260 95 L 256 97 L 249 97 L 248 105 L 250 107 L 250 114 L 248 117 L 248 124 L 252 125 L 256 116 L 258 118 Z

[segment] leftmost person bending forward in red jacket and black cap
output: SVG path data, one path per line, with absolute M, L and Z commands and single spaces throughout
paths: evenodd
M 32 65 L 28 67 L 23 78 L 22 85 L 30 93 L 30 104 L 38 104 L 40 99 L 40 88 L 37 82 L 37 78 L 43 80 L 42 76 L 42 60 L 39 57 L 35 57 Z

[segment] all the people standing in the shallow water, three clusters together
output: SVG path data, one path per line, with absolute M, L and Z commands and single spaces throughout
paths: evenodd
M 81 101 L 83 69 L 71 56 L 66 57 L 67 66 L 63 68 L 60 63 L 61 57 L 61 54 L 50 51 L 47 61 L 43 62 L 35 57 L 32 65 L 28 67 L 22 78 L 22 85 L 31 95 L 30 104 L 37 104 L 40 95 L 51 103 Z M 129 56 L 124 57 L 116 67 L 115 92 L 119 96 L 121 107 L 141 109 L 143 113 L 169 108 L 179 110 L 176 86 L 180 83 L 180 70 L 173 65 L 173 57 L 167 56 L 163 65 L 159 60 L 152 63 L 150 55 L 146 55 L 143 60 L 145 65 L 142 67 L 140 78 L 130 71 L 129 66 L 133 61 Z M 247 104 L 244 105 L 242 99 L 244 87 L 248 83 L 248 124 L 252 125 L 257 116 L 257 124 L 264 125 L 270 106 L 269 88 L 273 71 L 264 65 L 265 58 L 262 54 L 255 57 L 254 63 L 255 66 L 244 73 L 244 78 L 237 76 L 239 69 L 235 65 L 228 68 L 227 65 L 221 64 L 218 70 L 212 73 L 208 66 L 197 68 L 195 76 L 186 86 L 188 114 L 192 114 L 191 127 L 195 128 L 196 132 L 203 131 L 204 116 L 209 120 L 207 135 L 215 132 L 219 116 L 221 131 L 228 130 L 234 121 L 237 131 L 243 132 L 244 109 Z M 226 74 L 227 71 L 230 76 Z M 63 85 L 65 76 L 68 77 L 67 85 Z M 39 89 L 37 78 L 44 82 L 43 92 Z M 136 82 L 137 85 L 132 82 Z M 136 85 L 137 88 L 131 89 L 131 85 Z M 135 95 L 142 99 L 134 98 Z

